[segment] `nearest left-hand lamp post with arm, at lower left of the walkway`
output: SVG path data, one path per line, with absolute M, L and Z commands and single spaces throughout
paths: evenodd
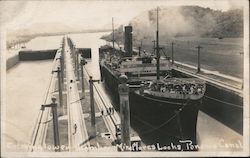
M 59 139 L 59 130 L 58 130 L 58 117 L 57 117 L 57 103 L 56 98 L 51 98 L 52 103 L 41 106 L 41 110 L 44 110 L 46 107 L 52 108 L 52 116 L 53 116 L 53 135 L 54 135 L 54 145 L 55 152 L 60 152 L 60 139 Z

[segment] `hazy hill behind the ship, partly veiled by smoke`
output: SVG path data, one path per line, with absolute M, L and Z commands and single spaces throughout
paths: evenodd
M 155 39 L 156 9 L 141 13 L 130 21 L 135 41 Z M 243 10 L 226 12 L 199 6 L 166 7 L 159 10 L 159 32 L 163 39 L 178 36 L 243 37 Z M 122 41 L 117 29 L 116 40 Z M 111 39 L 111 35 L 103 37 Z

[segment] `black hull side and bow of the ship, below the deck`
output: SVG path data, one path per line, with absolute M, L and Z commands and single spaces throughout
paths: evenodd
M 115 109 L 119 111 L 118 76 L 112 74 L 106 67 L 100 66 L 100 70 L 105 87 L 115 102 Z M 200 100 L 168 99 L 165 102 L 161 102 L 158 98 L 152 99 L 139 95 L 135 93 L 135 90 L 131 90 L 129 93 L 132 126 L 143 126 L 142 128 L 145 130 L 138 132 L 142 138 L 144 137 L 144 132 L 147 131 L 147 134 L 155 135 L 155 133 L 161 133 L 165 139 L 159 142 L 148 141 L 146 144 L 161 142 L 167 145 L 171 143 L 180 144 L 183 146 L 181 150 L 185 150 L 185 144 L 181 143 L 181 140 L 190 140 L 192 144 L 197 144 L 196 124 Z M 180 109 L 182 110 L 179 111 Z

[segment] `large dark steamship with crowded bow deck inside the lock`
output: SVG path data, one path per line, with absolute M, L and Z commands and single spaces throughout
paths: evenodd
M 156 57 L 146 53 L 132 56 L 131 32 L 132 26 L 126 26 L 125 52 L 116 50 L 114 45 L 99 49 L 102 81 L 119 103 L 119 76 L 125 74 L 130 87 L 132 121 L 149 124 L 152 131 L 164 130 L 168 143 L 181 144 L 181 140 L 190 140 L 197 144 L 197 116 L 206 90 L 205 82 L 174 73 L 170 59 L 160 57 L 158 29 Z M 119 106 L 115 108 L 119 110 Z

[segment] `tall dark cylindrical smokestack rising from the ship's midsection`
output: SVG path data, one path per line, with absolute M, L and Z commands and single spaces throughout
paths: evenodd
M 132 43 L 132 26 L 125 26 L 125 40 L 124 40 L 124 57 L 132 57 L 133 43 Z

